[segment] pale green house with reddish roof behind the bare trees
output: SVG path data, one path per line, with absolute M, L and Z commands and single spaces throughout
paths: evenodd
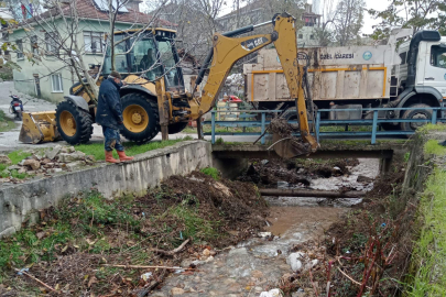
M 75 2 L 75 10 L 69 10 L 64 3 Z M 83 59 L 85 65 L 99 65 L 105 55 L 105 34 L 109 31 L 108 12 L 101 6 L 101 0 L 59 0 L 63 6 L 63 12 L 69 22 L 73 18 L 73 11 L 76 11 L 78 18 L 78 30 L 76 31 L 77 42 L 80 48 L 84 48 Z M 135 29 L 152 22 L 149 14 L 139 10 L 140 0 L 132 0 L 129 4 L 119 10 L 116 21 L 116 31 Z M 63 53 L 57 48 L 54 38 L 68 38 L 69 34 L 65 30 L 51 32 L 45 28 L 45 22 L 52 22 L 51 28 L 65 28 L 63 18 L 55 15 L 52 8 L 40 15 L 25 20 L 33 30 L 23 23 L 17 28 L 9 28 L 8 41 L 15 45 L 15 53 L 12 53 L 11 59 L 15 62 L 21 70 L 13 70 L 14 87 L 21 92 L 47 99 L 53 102 L 62 101 L 64 96 L 69 95 L 69 88 L 78 81 L 75 72 L 64 63 Z M 157 20 L 157 26 L 172 28 L 174 24 Z

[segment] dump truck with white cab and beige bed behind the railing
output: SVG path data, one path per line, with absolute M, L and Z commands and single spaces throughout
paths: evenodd
M 398 41 L 411 29 L 392 32 L 388 44 L 374 46 L 300 48 L 307 59 L 308 85 L 315 108 L 353 109 L 323 112 L 323 119 L 349 120 L 372 117 L 363 108 L 416 108 L 380 111 L 387 119 L 431 119 L 431 107 L 444 106 L 446 98 L 446 37 L 437 31 L 420 31 L 398 48 Z M 290 107 L 281 61 L 274 50 L 262 50 L 254 64 L 243 65 L 246 99 L 259 109 L 287 109 L 284 117 L 296 118 Z M 442 114 L 437 114 L 438 117 Z M 382 123 L 385 130 L 415 130 L 420 123 Z

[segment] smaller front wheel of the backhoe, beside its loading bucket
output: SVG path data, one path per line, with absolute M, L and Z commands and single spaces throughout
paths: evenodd
M 56 125 L 62 139 L 72 145 L 87 143 L 93 134 L 91 116 L 70 101 L 57 105 Z

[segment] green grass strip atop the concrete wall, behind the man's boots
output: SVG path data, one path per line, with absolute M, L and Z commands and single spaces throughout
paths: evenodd
M 192 138 L 186 136 L 184 139 L 176 139 L 176 140 L 168 140 L 168 141 L 152 141 L 146 144 L 138 145 L 133 142 L 124 142 L 123 146 L 126 148 L 126 154 L 129 156 L 134 156 L 138 154 L 142 154 L 149 151 L 163 148 L 170 145 L 174 145 L 175 143 L 192 140 Z M 91 144 L 80 144 L 75 146 L 76 151 L 84 152 L 87 155 L 93 155 L 97 161 L 106 160 L 106 154 L 104 150 L 102 143 L 91 143 Z M 113 151 L 113 156 L 118 157 L 116 151 Z

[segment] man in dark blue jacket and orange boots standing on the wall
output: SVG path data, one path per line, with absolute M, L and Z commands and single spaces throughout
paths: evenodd
M 106 162 L 120 163 L 133 160 L 127 156 L 121 143 L 119 130 L 123 127 L 122 105 L 119 89 L 122 87 L 121 75 L 111 72 L 106 80 L 100 84 L 98 110 L 96 122 L 102 127 L 105 136 Z M 119 160 L 113 158 L 113 148 L 118 152 Z

